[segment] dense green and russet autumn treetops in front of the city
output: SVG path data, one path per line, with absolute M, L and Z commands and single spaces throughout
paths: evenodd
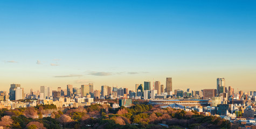
M 43 116 L 45 110 L 51 110 L 51 117 Z M 0 126 L 5 128 L 166 128 L 158 124 L 169 125 L 169 128 L 231 128 L 229 120 L 219 117 L 147 104 L 121 106 L 118 109 L 106 104 L 93 104 L 61 111 L 55 105 L 38 105 L 3 109 L 0 110 L 0 117 Z

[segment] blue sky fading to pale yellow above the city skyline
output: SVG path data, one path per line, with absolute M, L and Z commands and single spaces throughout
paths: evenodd
M 18 83 L 256 91 L 255 1 L 0 2 L 0 91 Z M 153 88 L 153 87 L 151 87 Z

